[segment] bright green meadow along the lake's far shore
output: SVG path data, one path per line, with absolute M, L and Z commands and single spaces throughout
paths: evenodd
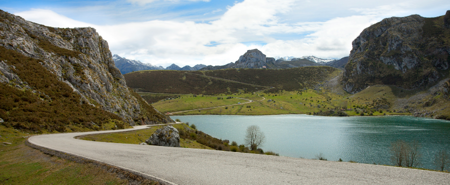
M 229 114 L 229 115 L 269 115 L 269 114 L 320 114 L 328 110 L 339 110 L 342 107 L 348 115 L 411 115 L 403 107 L 396 105 L 396 99 L 409 98 L 419 92 L 407 91 L 390 85 L 373 85 L 356 94 L 336 94 L 325 90 L 304 89 L 297 91 L 258 92 L 265 97 L 261 99 L 254 93 L 238 92 L 231 94 L 235 97 L 252 99 L 253 102 L 192 110 L 174 113 L 176 115 L 191 114 Z M 219 94 L 225 95 L 225 94 Z M 267 101 L 271 99 L 271 101 Z M 152 105 L 163 112 L 174 112 L 223 105 L 225 99 L 217 100 L 216 97 L 193 97 L 192 95 L 179 95 L 178 98 L 161 100 Z M 212 103 L 211 103 L 212 102 Z M 242 101 L 240 101 L 242 102 Z M 222 104 L 220 104 L 222 103 Z M 228 103 L 234 104 L 235 101 Z M 438 104 L 438 103 L 436 103 Z M 432 105 L 429 108 L 435 108 Z M 449 108 L 450 109 L 450 108 Z M 446 109 L 443 109 L 445 111 Z

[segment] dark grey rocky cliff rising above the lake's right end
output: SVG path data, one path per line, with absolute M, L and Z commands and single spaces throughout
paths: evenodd
M 342 78 L 356 93 L 372 84 L 424 88 L 448 76 L 450 10 L 445 15 L 384 18 L 352 42 Z

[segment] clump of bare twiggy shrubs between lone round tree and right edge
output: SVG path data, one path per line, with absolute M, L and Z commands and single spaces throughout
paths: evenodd
M 419 157 L 419 143 L 397 140 L 390 144 L 391 159 L 397 166 L 414 167 Z

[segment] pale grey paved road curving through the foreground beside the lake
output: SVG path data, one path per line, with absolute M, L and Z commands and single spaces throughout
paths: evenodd
M 73 138 L 116 131 L 123 130 L 37 135 L 28 141 L 176 184 L 450 184 L 449 173 L 435 171 Z

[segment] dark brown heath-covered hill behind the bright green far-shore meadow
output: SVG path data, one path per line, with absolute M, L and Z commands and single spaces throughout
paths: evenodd
M 296 90 L 325 81 L 339 69 L 309 66 L 289 69 L 221 69 L 206 71 L 144 70 L 124 74 L 129 87 L 142 92 L 182 94 L 232 94 L 242 90 L 254 92 Z M 276 76 L 276 77 L 274 77 Z

